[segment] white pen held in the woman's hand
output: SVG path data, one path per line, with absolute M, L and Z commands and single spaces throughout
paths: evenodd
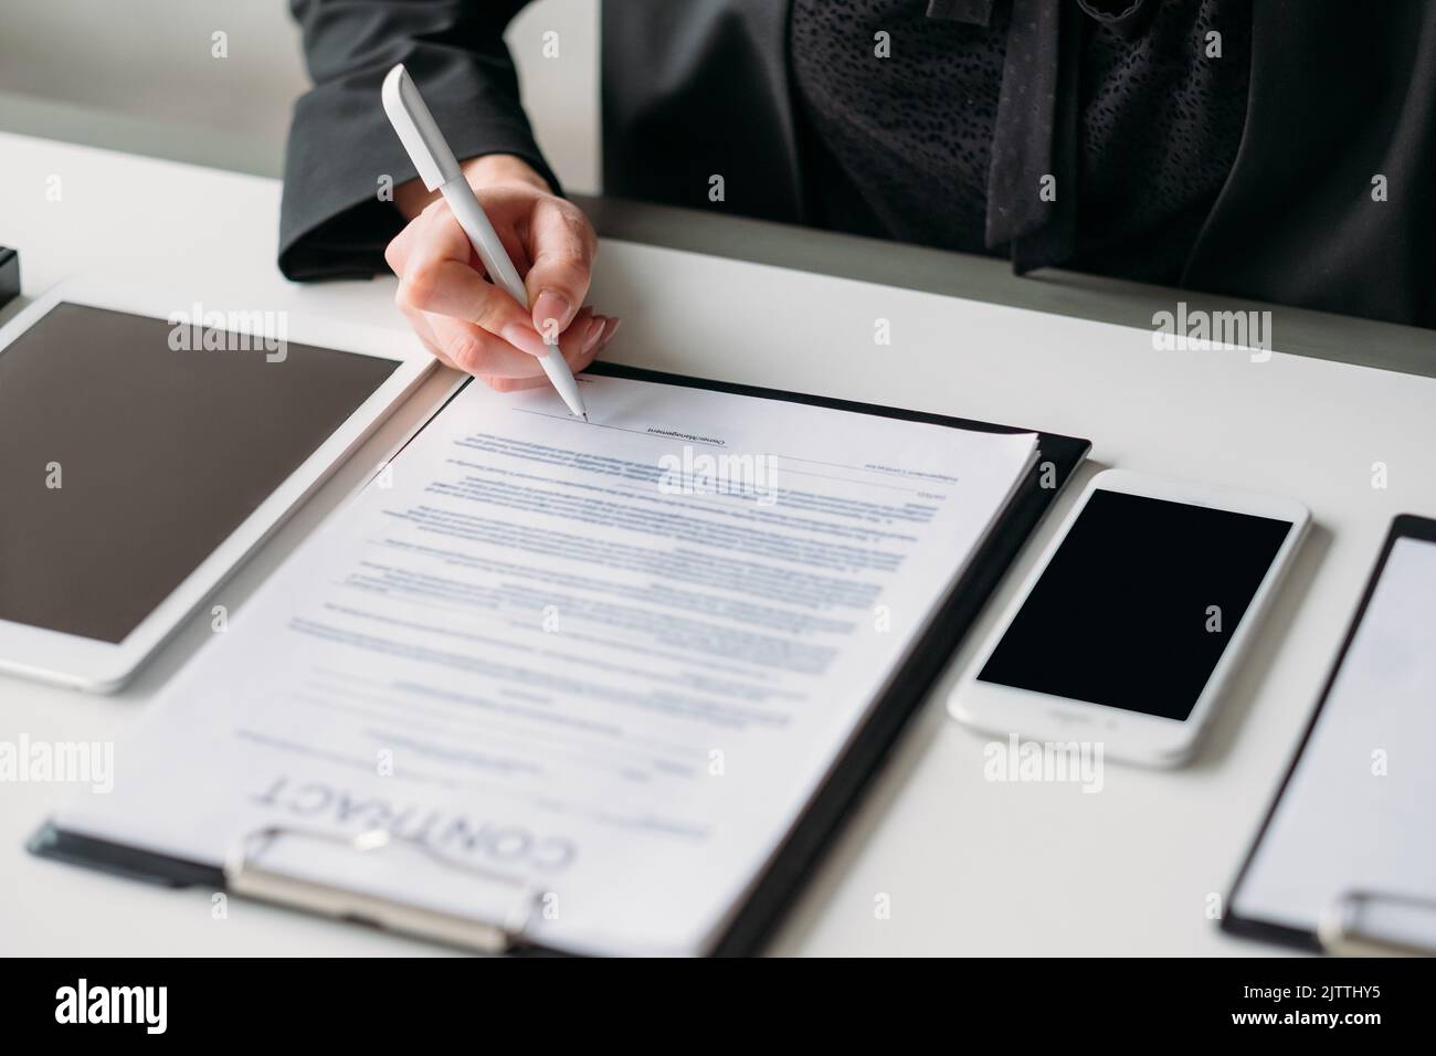
M 488 221 L 484 207 L 474 197 L 474 188 L 464 178 L 464 172 L 454 158 L 454 151 L 449 149 L 448 141 L 435 124 L 434 115 L 429 114 L 424 96 L 419 95 L 414 78 L 404 69 L 402 62 L 383 79 L 382 95 L 383 112 L 389 115 L 389 124 L 399 134 L 404 149 L 409 152 L 409 159 L 419 170 L 419 180 L 428 190 L 442 191 L 444 201 L 452 210 L 454 218 L 458 220 L 468 240 L 474 243 L 474 251 L 484 263 L 488 277 L 520 305 L 530 307 L 528 292 L 524 289 L 524 280 L 518 277 L 518 269 L 508 259 L 504 243 L 500 241 L 498 233 Z M 587 421 L 589 414 L 583 408 L 583 397 L 579 395 L 579 382 L 573 379 L 573 372 L 564 362 L 563 353 L 559 352 L 559 346 L 549 345 L 547 351 L 538 356 L 538 363 L 569 409 Z

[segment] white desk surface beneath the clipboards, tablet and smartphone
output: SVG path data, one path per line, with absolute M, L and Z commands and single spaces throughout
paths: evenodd
M 13 135 L 0 135 L 0 243 L 20 247 L 27 296 L 80 272 L 172 274 L 230 307 L 360 318 L 408 339 L 392 282 L 300 287 L 280 277 L 274 181 Z M 52 177 L 59 203 L 46 200 Z M 1390 519 L 1436 514 L 1436 381 L 1281 353 L 1254 363 L 1241 352 L 1155 352 L 1143 329 L 630 243 L 603 246 L 593 302 L 625 319 L 609 356 L 620 362 L 1091 438 L 1093 464 L 1038 539 L 1097 466 L 1305 501 L 1315 532 L 1192 766 L 1113 763 L 1099 795 L 985 782 L 985 738 L 954 724 L 943 704 L 991 629 L 998 606 L 989 605 L 771 947 L 1272 951 L 1223 937 L 1209 898 L 1228 891 Z M 873 342 L 877 318 L 890 320 L 890 346 Z M 1274 330 L 1281 348 L 1279 310 Z M 210 603 L 243 619 L 254 586 L 439 388 L 435 378 L 401 409 L 126 691 L 92 697 L 0 675 L 0 740 L 111 740 L 135 723 L 210 632 Z M 1389 467 L 1386 490 L 1371 486 L 1377 461 Z M 439 953 L 234 899 L 215 921 L 207 891 L 152 888 L 26 853 L 26 838 L 72 795 L 59 784 L 0 784 L 0 953 Z M 875 914 L 879 894 L 890 899 L 887 920 Z

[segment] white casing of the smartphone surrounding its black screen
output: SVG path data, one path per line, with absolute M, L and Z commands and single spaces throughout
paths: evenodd
M 1097 491 L 1122 491 L 1150 499 L 1165 499 L 1186 506 L 1200 506 L 1232 513 L 1251 513 L 1290 523 L 1291 532 L 1282 540 L 1262 576 L 1256 593 L 1232 629 L 1231 641 L 1212 668 L 1206 685 L 1185 720 L 1140 714 L 1124 708 L 1070 700 L 1032 690 L 1020 690 L 997 682 L 982 682 L 978 674 L 987 667 L 992 652 L 1007 635 L 1027 596 L 1047 570 L 1047 565 L 1067 539 L 1087 503 Z M 1130 470 L 1104 470 L 1093 477 L 1068 511 L 1061 527 L 1043 550 L 1037 565 L 1022 582 L 1012 602 L 1002 612 L 997 629 L 988 635 L 978 657 L 968 667 L 948 698 L 948 711 L 959 723 L 989 734 L 1017 734 L 1035 741 L 1100 740 L 1114 759 L 1146 766 L 1178 766 L 1190 757 L 1211 721 L 1242 652 L 1251 642 L 1262 612 L 1275 595 L 1292 563 L 1297 547 L 1307 532 L 1311 514 L 1294 499 L 1236 491 L 1225 487 L 1167 480 Z M 1120 659 L 1122 644 L 1113 639 L 1113 662 Z

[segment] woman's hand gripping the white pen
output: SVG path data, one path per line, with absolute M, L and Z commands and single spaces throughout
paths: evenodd
M 448 204 L 418 180 L 395 188 L 409 224 L 383 254 L 399 276 L 399 310 L 439 362 L 495 389 L 544 384 L 536 356 L 553 342 L 577 374 L 619 326 L 583 307 L 597 249 L 593 227 L 521 158 L 490 154 L 462 170 L 524 276 L 533 312 L 484 280 L 484 266 Z

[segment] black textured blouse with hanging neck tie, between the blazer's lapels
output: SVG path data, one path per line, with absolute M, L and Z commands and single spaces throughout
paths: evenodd
M 1251 0 L 793 0 L 816 218 L 1176 284 L 1241 144 L 1251 20 Z

